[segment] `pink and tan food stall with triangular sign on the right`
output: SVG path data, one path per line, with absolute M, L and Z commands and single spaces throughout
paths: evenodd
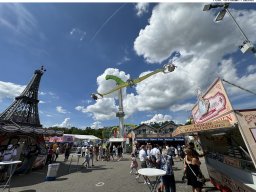
M 220 191 L 256 191 L 256 109 L 234 110 L 217 79 L 192 109 L 193 124 L 173 136 L 193 135 L 206 152 L 210 180 Z

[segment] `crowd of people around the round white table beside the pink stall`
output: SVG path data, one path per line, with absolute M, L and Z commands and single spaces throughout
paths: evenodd
M 175 177 L 173 171 L 174 158 L 178 158 L 184 162 L 184 174 L 182 180 L 187 180 L 187 185 L 192 186 L 193 192 L 201 192 L 205 179 L 200 170 L 200 160 L 198 152 L 194 149 L 194 143 L 190 142 L 187 146 L 178 145 L 176 148 L 173 146 L 160 147 L 158 144 L 141 145 L 140 149 L 137 147 L 131 154 L 130 173 L 138 174 L 138 162 L 141 168 L 157 168 L 166 171 L 166 175 L 161 177 L 161 182 L 157 190 L 160 192 L 176 192 Z M 144 184 L 149 184 L 144 180 Z

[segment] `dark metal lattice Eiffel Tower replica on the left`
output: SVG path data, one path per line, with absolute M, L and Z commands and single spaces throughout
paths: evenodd
M 42 127 L 38 113 L 38 89 L 42 75 L 46 70 L 42 66 L 34 75 L 15 101 L 0 114 L 0 122 L 19 126 Z

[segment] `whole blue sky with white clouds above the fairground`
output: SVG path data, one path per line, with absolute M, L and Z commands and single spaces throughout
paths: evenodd
M 44 65 L 39 114 L 44 127 L 118 125 L 117 93 L 97 101 L 91 94 L 173 63 L 123 89 L 125 123 L 185 123 L 197 101 L 221 77 L 256 92 L 256 58 L 243 54 L 245 40 L 231 17 L 214 22 L 221 9 L 206 3 L 0 3 L 0 112 Z M 229 10 L 255 44 L 256 3 Z M 235 109 L 256 108 L 255 95 L 224 83 Z

